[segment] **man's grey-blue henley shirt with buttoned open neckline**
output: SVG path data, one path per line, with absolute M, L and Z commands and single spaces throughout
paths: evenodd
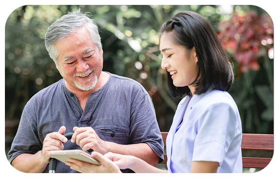
M 110 74 L 110 73 L 109 73 Z M 27 102 L 17 134 L 8 153 L 10 162 L 23 153 L 42 150 L 45 136 L 73 127 L 92 127 L 100 139 L 118 144 L 147 143 L 163 161 L 163 140 L 149 94 L 141 84 L 110 74 L 103 87 L 88 97 L 84 111 L 77 97 L 68 91 L 64 79 L 44 88 Z M 80 149 L 63 143 L 64 150 Z M 123 170 L 129 172 L 129 170 Z M 44 173 L 48 173 L 48 167 Z M 58 161 L 56 173 L 78 173 Z

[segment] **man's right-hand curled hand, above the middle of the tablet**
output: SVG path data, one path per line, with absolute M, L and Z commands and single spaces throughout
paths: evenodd
M 87 151 L 89 149 L 93 149 L 95 152 L 105 154 L 107 151 L 107 142 L 101 140 L 99 136 L 96 134 L 95 130 L 91 127 L 78 128 L 74 127 L 75 131 L 71 142 L 76 142 L 83 151 Z

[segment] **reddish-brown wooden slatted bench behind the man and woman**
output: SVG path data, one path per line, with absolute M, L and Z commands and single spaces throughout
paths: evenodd
M 166 146 L 168 132 L 161 132 Z M 274 151 L 274 134 L 242 134 L 241 149 Z M 167 154 L 164 161 L 167 163 Z M 243 168 L 274 169 L 274 158 L 242 157 Z

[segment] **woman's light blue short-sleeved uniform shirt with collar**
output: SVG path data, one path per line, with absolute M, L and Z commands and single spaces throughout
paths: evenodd
M 168 172 L 189 173 L 192 161 L 215 161 L 217 173 L 242 173 L 241 141 L 239 111 L 227 92 L 187 96 L 166 139 Z

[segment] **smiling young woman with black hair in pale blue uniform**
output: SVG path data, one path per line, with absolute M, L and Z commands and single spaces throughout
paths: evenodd
M 168 171 L 130 155 L 92 153 L 101 166 L 71 160 L 72 169 L 89 172 L 242 173 L 242 126 L 238 108 L 227 93 L 234 74 L 211 24 L 184 11 L 161 28 L 161 67 L 179 104 L 166 139 Z

